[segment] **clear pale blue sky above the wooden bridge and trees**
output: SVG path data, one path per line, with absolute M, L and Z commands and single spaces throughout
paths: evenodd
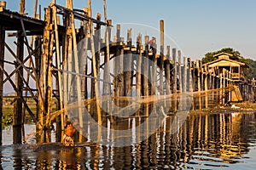
M 38 0 L 43 8 L 49 2 Z M 56 2 L 66 5 L 65 0 Z M 33 3 L 26 0 L 29 16 Z M 93 16 L 101 13 L 103 19 L 103 0 L 91 0 L 91 4 Z M 19 5 L 20 0 L 7 0 L 11 10 L 19 11 Z M 73 6 L 87 7 L 87 0 L 73 0 Z M 121 24 L 123 37 L 132 28 L 133 39 L 140 32 L 159 41 L 160 20 L 164 20 L 165 45 L 178 48 L 191 59 L 201 59 L 221 48 L 234 48 L 243 57 L 256 59 L 255 0 L 107 0 L 107 11 L 113 26 Z

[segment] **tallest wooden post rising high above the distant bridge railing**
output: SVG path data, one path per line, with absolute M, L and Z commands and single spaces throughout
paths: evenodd
M 164 20 L 160 20 L 160 94 L 164 94 L 164 47 L 165 47 Z

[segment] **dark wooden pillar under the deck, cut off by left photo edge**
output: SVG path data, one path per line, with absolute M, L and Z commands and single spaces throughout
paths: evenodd
M 5 42 L 5 30 L 3 26 L 0 26 L 0 66 L 4 68 L 4 42 Z M 0 71 L 0 145 L 3 144 L 2 136 L 2 116 L 3 116 L 3 71 Z

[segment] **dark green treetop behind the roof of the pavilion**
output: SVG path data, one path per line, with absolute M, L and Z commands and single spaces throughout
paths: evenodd
M 213 55 L 220 54 L 220 53 L 233 54 L 234 56 L 236 56 L 238 58 L 242 58 L 241 54 L 238 51 L 234 50 L 233 48 L 222 48 L 218 51 L 205 54 L 205 57 L 201 59 L 202 64 L 206 64 L 208 62 L 211 62 L 211 61 L 217 59 L 217 58 L 213 57 Z

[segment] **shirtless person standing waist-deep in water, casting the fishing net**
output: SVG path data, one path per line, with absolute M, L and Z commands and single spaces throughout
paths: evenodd
M 73 134 L 76 132 L 76 128 L 73 127 L 72 122 L 67 122 L 65 134 L 63 136 L 63 144 L 65 146 L 74 146 Z

